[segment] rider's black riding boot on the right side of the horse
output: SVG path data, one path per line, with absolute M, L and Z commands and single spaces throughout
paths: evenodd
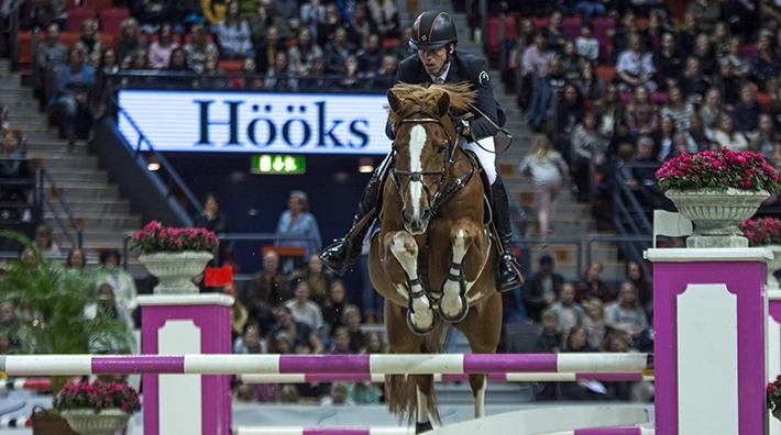
M 502 253 L 496 267 L 496 288 L 499 291 L 509 291 L 524 283 L 524 277 L 520 274 L 520 266 L 513 256 L 513 226 L 509 223 L 509 201 L 507 200 L 507 191 L 502 178 L 496 176 L 496 181 L 491 185 L 493 194 L 493 216 L 494 226 L 502 244 Z

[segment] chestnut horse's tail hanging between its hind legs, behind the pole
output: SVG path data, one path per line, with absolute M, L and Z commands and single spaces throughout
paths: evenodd
M 450 323 L 437 322 L 435 328 L 424 337 L 419 352 L 421 354 L 441 354 L 448 345 L 452 330 Z M 437 397 L 433 392 L 432 375 L 386 375 L 385 402 L 388 411 L 397 415 L 399 420 L 404 420 L 406 416 L 407 423 L 413 424 L 418 409 L 418 386 L 426 394 L 426 408 L 429 415 L 435 422 L 441 424 Z

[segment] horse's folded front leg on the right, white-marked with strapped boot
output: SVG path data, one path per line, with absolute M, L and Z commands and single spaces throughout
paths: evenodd
M 484 234 L 482 226 L 468 220 L 458 221 L 450 231 L 451 263 L 439 303 L 440 314 L 448 322 L 461 322 L 469 312 L 466 291 L 480 277 L 487 258 L 485 237 L 481 239 L 481 234 Z

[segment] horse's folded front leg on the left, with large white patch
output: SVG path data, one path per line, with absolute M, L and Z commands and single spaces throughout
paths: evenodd
M 407 323 L 416 334 L 426 334 L 433 328 L 435 312 L 418 276 L 418 243 L 406 231 L 396 231 L 385 236 L 386 247 L 404 269 L 407 281 L 397 283 L 407 293 Z

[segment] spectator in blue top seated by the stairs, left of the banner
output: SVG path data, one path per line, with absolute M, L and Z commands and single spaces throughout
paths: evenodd
M 70 152 L 76 144 L 77 127 L 82 131 L 89 129 L 85 125 L 89 116 L 79 115 L 86 114 L 87 94 L 95 83 L 95 70 L 85 64 L 84 53 L 77 47 L 70 49 L 68 57 L 69 64 L 57 74 L 50 107 L 59 123 L 61 135 L 68 140 Z M 79 119 L 80 125 L 77 125 Z

